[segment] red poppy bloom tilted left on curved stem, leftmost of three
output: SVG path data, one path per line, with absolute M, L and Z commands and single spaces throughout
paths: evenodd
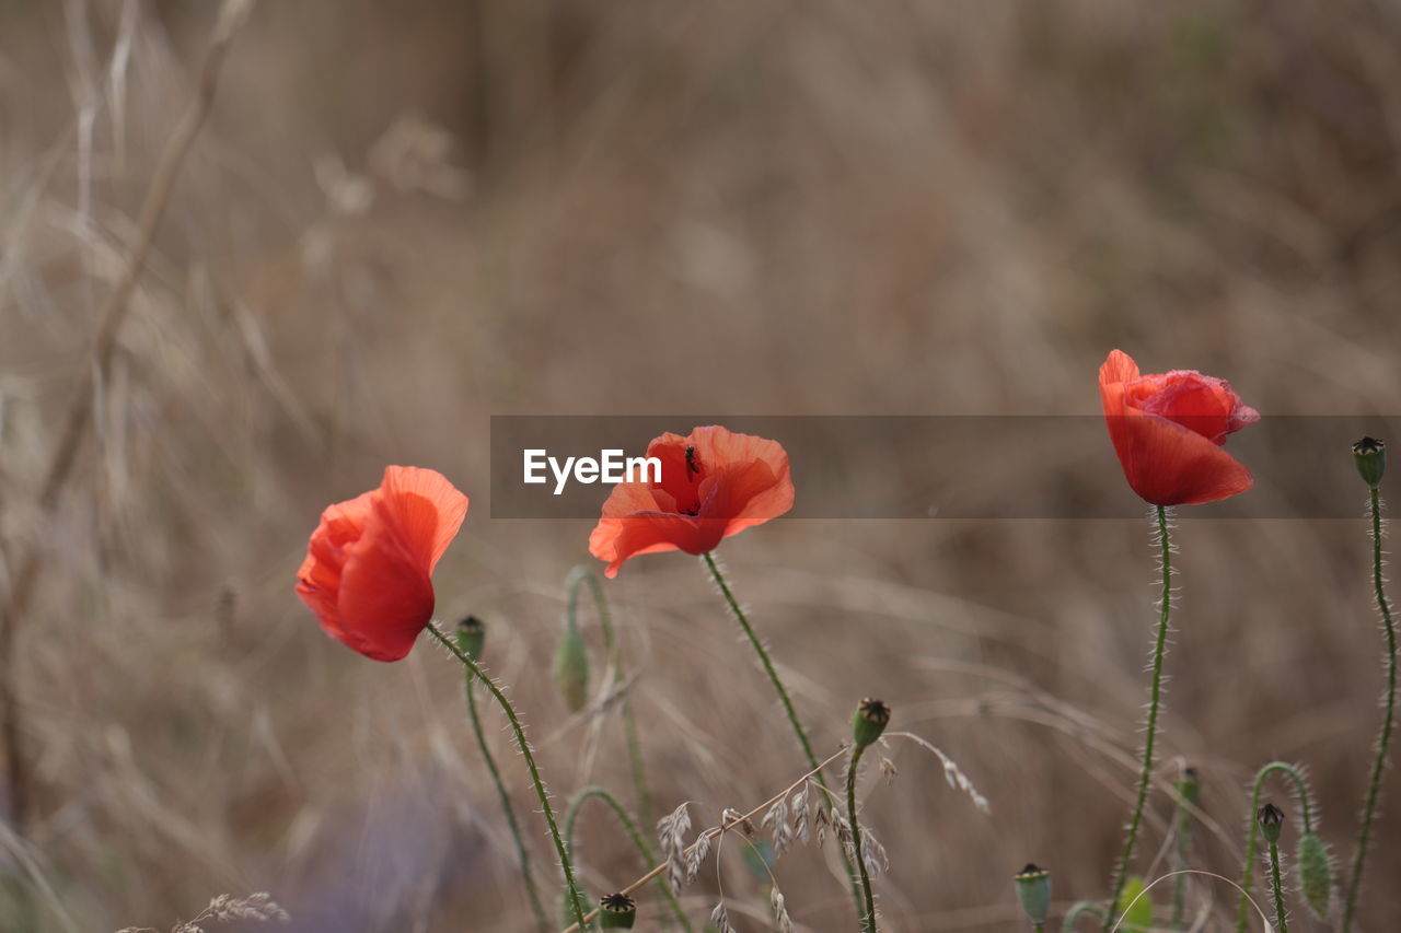
M 433 616 L 433 567 L 465 516 L 467 496 L 441 474 L 388 466 L 378 489 L 321 513 L 297 595 L 331 637 L 398 661 Z

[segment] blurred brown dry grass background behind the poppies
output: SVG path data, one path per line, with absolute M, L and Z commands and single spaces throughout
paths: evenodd
M 615 723 L 569 719 L 545 677 L 588 525 L 488 518 L 490 413 L 1089 413 L 1112 346 L 1227 375 L 1267 415 L 1401 410 L 1387 0 L 265 0 L 41 523 L 212 18 L 0 6 L 0 545 L 11 570 L 31 542 L 46 560 L 17 646 L 31 853 L 62 902 L 43 930 L 168 926 L 265 888 L 298 930 L 528 927 L 454 665 L 360 658 L 291 591 L 325 503 L 385 462 L 444 471 L 476 506 L 441 615 L 493 626 L 558 793 L 625 789 Z M 1320 482 L 1356 482 L 1345 451 Z M 1351 849 L 1380 688 L 1362 502 L 1356 523 L 1181 523 L 1163 773 L 1205 775 L 1229 838 L 1202 834 L 1203 867 L 1238 870 L 1241 785 L 1274 756 L 1311 766 Z M 820 749 L 877 692 L 992 803 L 911 751 L 873 785 L 887 929 L 1020 930 L 1027 860 L 1059 897 L 1104 891 L 1145 524 L 780 523 L 724 556 Z M 660 808 L 715 820 L 801 772 L 699 567 L 643 559 L 608 591 Z M 1372 932 L 1401 916 L 1391 814 Z M 591 890 L 639 874 L 584 822 Z M 1159 821 L 1140 866 L 1161 841 Z M 762 909 L 722 864 L 731 915 Z M 814 853 L 778 873 L 801 927 L 852 926 Z

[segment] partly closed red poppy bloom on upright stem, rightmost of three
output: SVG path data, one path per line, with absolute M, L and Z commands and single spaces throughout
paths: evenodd
M 1192 370 L 1139 375 L 1133 359 L 1114 350 L 1100 367 L 1100 398 L 1124 476 L 1154 506 L 1216 502 L 1255 483 L 1220 447 L 1259 420 L 1226 380 Z

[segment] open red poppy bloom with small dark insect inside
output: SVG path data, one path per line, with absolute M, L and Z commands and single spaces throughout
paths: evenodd
M 778 441 L 698 427 L 686 437 L 657 437 L 647 457 L 661 461 L 661 481 L 618 483 L 588 535 L 588 552 L 608 562 L 609 577 L 639 553 L 706 553 L 793 507 L 787 452 Z

